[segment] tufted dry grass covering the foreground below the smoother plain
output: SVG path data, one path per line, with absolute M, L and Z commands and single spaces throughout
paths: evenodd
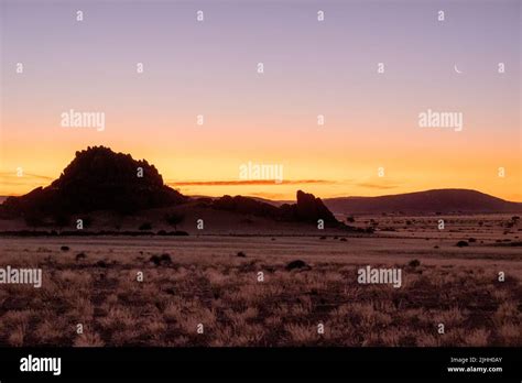
M 498 282 L 498 267 L 485 261 L 483 252 L 475 261 L 467 256 L 466 262 L 441 261 L 438 254 L 415 256 L 421 265 L 411 267 L 410 255 L 371 256 L 362 263 L 317 240 L 320 244 L 303 242 L 302 248 L 306 252 L 314 245 L 315 255 L 305 258 L 312 269 L 289 272 L 284 265 L 296 256 L 270 250 L 265 250 L 270 256 L 238 259 L 237 249 L 228 255 L 206 256 L 199 255 L 197 247 L 192 252 L 171 249 L 172 264 L 156 266 L 149 262 L 154 250 L 140 252 L 105 241 L 97 251 L 81 248 L 87 254 L 81 261 L 73 251 L 61 253 L 53 243 L 24 243 L 21 248 L 26 251 L 1 255 L 1 264 L 12 266 L 28 266 L 21 259 L 30 259 L 43 269 L 44 281 L 41 288 L 1 286 L 0 343 L 522 346 L 519 276 L 510 274 Z M 289 239 L 287 248 L 284 241 L 271 242 L 273 252 L 286 249 L 295 254 L 297 240 Z M 354 242 L 350 238 L 341 245 Z M 97 264 L 100 260 L 108 266 Z M 509 262 L 503 270 L 520 270 L 516 259 Z M 369 263 L 402 267 L 402 287 L 358 284 L 357 270 Z M 139 271 L 143 282 L 137 281 Z M 264 282 L 258 282 L 260 271 Z M 76 332 L 77 324 L 84 326 L 83 335 Z M 324 333 L 318 333 L 318 324 L 324 324 Z M 438 324 L 445 325 L 444 335 L 437 332 Z

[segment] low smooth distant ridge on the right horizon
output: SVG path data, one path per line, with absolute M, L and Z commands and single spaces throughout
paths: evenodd
M 521 212 L 522 203 L 507 201 L 471 189 L 432 189 L 380 197 L 325 198 L 334 214 Z

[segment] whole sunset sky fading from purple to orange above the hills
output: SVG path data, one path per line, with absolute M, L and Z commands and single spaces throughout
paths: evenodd
M 105 145 L 187 195 L 469 188 L 522 201 L 521 12 L 518 0 L 0 0 L 0 195 Z M 62 125 L 69 110 L 104 113 L 104 129 Z M 458 113 L 461 130 L 420 127 L 428 110 Z M 249 163 L 282 182 L 242 177 Z

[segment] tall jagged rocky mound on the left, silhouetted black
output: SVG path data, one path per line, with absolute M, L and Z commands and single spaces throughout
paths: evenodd
M 142 176 L 141 176 L 142 175 Z M 187 198 L 163 184 L 146 161 L 94 146 L 76 152 L 58 179 L 21 197 L 10 197 L 2 209 L 11 215 L 59 216 L 94 210 L 131 214 L 184 203 Z

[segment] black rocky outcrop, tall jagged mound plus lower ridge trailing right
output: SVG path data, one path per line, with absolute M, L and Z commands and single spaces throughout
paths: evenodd
M 172 207 L 194 201 L 166 186 L 154 165 L 130 154 L 94 146 L 76 152 L 62 175 L 47 187 L 21 197 L 9 197 L 0 206 L 2 217 L 24 217 L 32 226 L 68 225 L 69 216 L 98 210 L 133 215 L 141 210 Z M 296 204 L 281 207 L 242 196 L 200 200 L 203 206 L 265 217 L 280 221 L 317 222 L 334 227 L 339 222 L 320 198 L 297 192 Z M 200 204 L 200 205 L 202 205 Z

